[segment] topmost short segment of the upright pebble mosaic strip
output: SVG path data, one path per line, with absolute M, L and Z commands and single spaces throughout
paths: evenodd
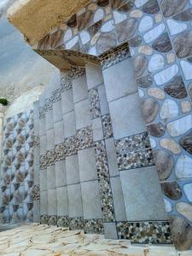
M 97 89 L 89 90 L 90 115 L 92 119 L 101 116 L 101 108 L 99 103 L 99 93 Z

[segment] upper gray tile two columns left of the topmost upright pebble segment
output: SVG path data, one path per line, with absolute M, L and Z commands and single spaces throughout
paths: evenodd
M 66 90 L 61 94 L 62 113 L 68 113 L 74 109 L 73 90 Z

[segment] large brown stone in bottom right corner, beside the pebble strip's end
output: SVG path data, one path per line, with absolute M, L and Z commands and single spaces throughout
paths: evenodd
M 172 216 L 172 238 L 177 250 L 189 250 L 192 247 L 192 227 L 183 219 Z

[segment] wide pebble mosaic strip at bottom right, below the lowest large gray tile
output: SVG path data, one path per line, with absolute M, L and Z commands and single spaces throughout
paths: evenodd
M 132 243 L 170 244 L 172 233 L 169 222 L 118 222 L 119 239 Z

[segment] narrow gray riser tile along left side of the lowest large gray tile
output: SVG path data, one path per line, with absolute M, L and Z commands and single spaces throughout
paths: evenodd
M 125 203 L 119 176 L 111 178 L 111 189 L 113 193 L 113 206 L 115 218 L 117 221 L 125 221 Z

